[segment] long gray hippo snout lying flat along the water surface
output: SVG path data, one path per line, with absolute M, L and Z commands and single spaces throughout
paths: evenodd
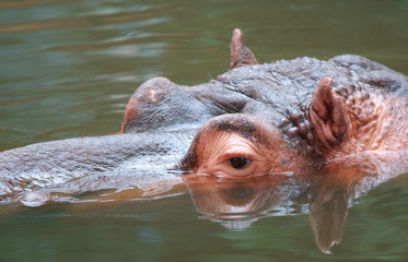
M 0 153 L 0 195 L 96 172 L 149 170 L 154 166 L 171 168 L 194 134 L 190 130 L 117 134 L 53 141 L 5 151 Z

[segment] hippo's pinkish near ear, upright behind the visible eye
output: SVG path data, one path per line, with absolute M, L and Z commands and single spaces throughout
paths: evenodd
M 339 145 L 346 139 L 348 130 L 343 102 L 334 92 L 331 83 L 330 78 L 320 81 L 310 109 L 313 128 L 328 150 Z

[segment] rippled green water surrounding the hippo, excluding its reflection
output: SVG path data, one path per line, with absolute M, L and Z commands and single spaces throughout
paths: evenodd
M 358 53 L 408 74 L 407 14 L 408 1 L 2 0 L 0 151 L 117 132 L 148 79 L 198 84 L 224 72 L 236 26 L 261 62 Z M 232 230 L 185 190 L 1 214 L 0 261 L 407 261 L 407 186 L 404 176 L 358 199 L 331 255 L 307 214 Z

